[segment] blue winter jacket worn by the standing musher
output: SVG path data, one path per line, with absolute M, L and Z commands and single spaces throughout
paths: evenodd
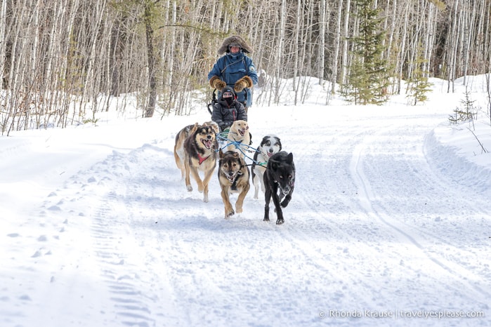
M 211 77 L 218 76 L 227 86 L 233 87 L 236 81 L 246 75 L 252 79 L 253 84 L 257 84 L 258 76 L 252 59 L 244 55 L 242 51 L 235 54 L 226 53 L 216 60 L 215 65 L 208 74 L 208 81 Z M 218 94 L 218 98 L 220 98 L 220 94 Z M 242 92 L 237 93 L 237 101 L 245 103 L 246 107 L 251 107 L 251 89 L 244 88 Z

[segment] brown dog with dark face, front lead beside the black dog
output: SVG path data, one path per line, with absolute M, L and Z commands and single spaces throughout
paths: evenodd
M 249 168 L 246 166 L 244 159 L 235 151 L 225 153 L 218 152 L 220 161 L 218 161 L 218 181 L 222 189 L 221 196 L 225 205 L 225 218 L 233 215 L 234 209 L 230 203 L 230 194 L 239 193 L 237 202 L 235 202 L 235 211 L 242 213 L 242 203 L 251 187 L 249 184 Z

